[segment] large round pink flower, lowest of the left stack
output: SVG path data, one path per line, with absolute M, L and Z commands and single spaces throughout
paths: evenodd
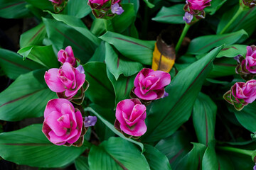
M 43 133 L 55 145 L 72 145 L 81 137 L 82 114 L 70 101 L 48 101 L 44 111 Z

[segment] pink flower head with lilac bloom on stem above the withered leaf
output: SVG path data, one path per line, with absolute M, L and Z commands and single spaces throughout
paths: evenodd
M 186 11 L 183 20 L 187 24 L 196 23 L 201 18 L 205 18 L 206 13 L 203 11 L 204 8 L 210 6 L 211 0 L 187 0 L 184 10 Z

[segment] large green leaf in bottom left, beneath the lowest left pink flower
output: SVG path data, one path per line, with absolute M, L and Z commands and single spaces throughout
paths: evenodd
M 36 167 L 60 167 L 73 162 L 86 147 L 53 145 L 43 134 L 42 125 L 0 134 L 0 156 L 16 164 Z

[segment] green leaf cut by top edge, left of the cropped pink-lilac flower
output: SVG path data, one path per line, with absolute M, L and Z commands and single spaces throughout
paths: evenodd
M 83 18 L 91 13 L 92 9 L 87 4 L 88 0 L 72 0 L 68 1 L 64 13 L 69 16 L 76 16 L 78 18 Z

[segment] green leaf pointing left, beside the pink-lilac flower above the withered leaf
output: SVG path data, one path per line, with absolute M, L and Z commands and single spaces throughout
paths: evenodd
M 183 10 L 183 6 L 184 4 L 177 4 L 171 7 L 163 6 L 152 20 L 160 23 L 184 24 L 183 16 L 185 11 Z

